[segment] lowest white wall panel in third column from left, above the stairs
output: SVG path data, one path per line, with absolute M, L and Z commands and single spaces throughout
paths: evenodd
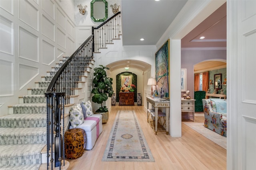
M 42 42 L 42 63 L 50 65 L 55 59 L 55 47 L 43 40 Z

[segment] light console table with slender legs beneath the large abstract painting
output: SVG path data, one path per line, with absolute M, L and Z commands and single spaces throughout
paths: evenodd
M 157 134 L 157 123 L 158 123 L 158 107 L 166 107 L 166 134 L 169 134 L 169 115 L 170 115 L 170 101 L 161 98 L 147 97 L 147 109 L 148 105 L 152 104 L 155 107 L 155 132 Z

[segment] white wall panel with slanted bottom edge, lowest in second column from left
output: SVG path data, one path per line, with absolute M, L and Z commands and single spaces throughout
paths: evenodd
M 21 90 L 24 86 L 26 86 L 26 84 L 32 81 L 33 78 L 35 78 L 39 74 L 39 68 L 26 64 L 20 64 L 19 73 L 19 87 Z

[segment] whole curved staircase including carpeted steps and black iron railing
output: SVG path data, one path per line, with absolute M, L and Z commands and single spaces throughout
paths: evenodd
M 42 81 L 28 89 L 28 95 L 20 97 L 19 104 L 9 106 L 8 115 L 0 117 L 1 170 L 46 169 L 49 157 L 53 160 L 50 167 L 54 166 L 54 159 L 55 166 L 59 166 L 58 161 L 64 159 L 60 147 L 63 129 L 67 129 L 69 122 L 68 111 L 72 105 L 90 97 L 84 94 L 88 92 L 86 80 L 90 78 L 87 77 L 92 76 L 93 53 L 100 53 L 99 49 L 106 49 L 107 44 L 119 39 L 120 18 L 118 12 L 98 27 L 92 27 L 92 35 L 70 57 L 64 57 Z

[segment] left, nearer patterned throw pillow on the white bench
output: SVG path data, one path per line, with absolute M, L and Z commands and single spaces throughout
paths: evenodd
M 80 104 L 76 104 L 72 106 L 69 113 L 70 113 L 70 123 L 72 127 L 75 128 L 81 125 L 82 123 L 84 123 L 84 115 L 83 115 L 82 107 L 80 106 Z

